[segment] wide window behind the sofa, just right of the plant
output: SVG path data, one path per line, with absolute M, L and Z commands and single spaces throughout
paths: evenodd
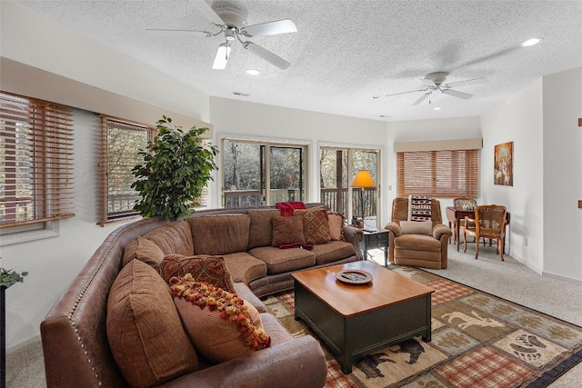
M 225 207 L 306 198 L 306 145 L 223 139 Z

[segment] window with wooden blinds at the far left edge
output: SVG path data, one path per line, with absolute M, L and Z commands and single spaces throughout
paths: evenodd
M 0 92 L 0 232 L 49 229 L 75 215 L 71 111 Z

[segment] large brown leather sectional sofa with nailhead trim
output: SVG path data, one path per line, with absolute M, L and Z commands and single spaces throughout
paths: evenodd
M 206 364 L 196 372 L 162 378 L 159 386 L 323 386 L 326 361 L 319 343 L 308 335 L 293 338 L 275 317 L 266 313 L 259 296 L 291 290 L 291 274 L 297 270 L 361 260 L 361 231 L 346 226 L 345 242 L 315 245 L 311 251 L 279 249 L 270 246 L 271 219 L 276 216 L 280 214 L 272 206 L 216 209 L 196 212 L 174 223 L 152 218 L 116 229 L 41 323 L 47 386 L 128 385 L 109 347 L 107 301 L 124 264 L 135 262 L 128 257 L 125 247 L 138 236 L 154 242 L 163 254 L 222 255 L 236 292 L 255 305 L 272 340 L 270 347 L 251 356 Z M 179 352 L 167 350 L 176 351 Z

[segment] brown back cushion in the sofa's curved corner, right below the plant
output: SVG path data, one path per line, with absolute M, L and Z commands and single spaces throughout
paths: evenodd
M 160 226 L 144 237 L 159 246 L 164 254 L 194 254 L 190 225 L 184 220 Z

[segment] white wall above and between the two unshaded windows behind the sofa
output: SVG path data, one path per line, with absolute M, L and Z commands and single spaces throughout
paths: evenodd
M 349 145 L 380 149 L 381 158 L 383 158 L 380 172 L 382 179 L 376 184 L 383 184 L 386 181 L 386 123 L 384 122 L 218 97 L 210 98 L 210 122 L 214 125 L 216 144 L 220 144 L 220 138 L 227 136 L 309 144 L 311 163 L 308 171 L 307 202 L 319 201 L 318 165 L 313 161 L 319 160 L 319 147 L 322 145 Z M 219 179 L 216 181 L 219 183 Z M 213 207 L 220 206 L 220 190 L 215 190 L 213 193 Z M 386 209 L 385 195 L 381 198 L 380 207 L 382 220 L 387 213 L 384 210 Z

